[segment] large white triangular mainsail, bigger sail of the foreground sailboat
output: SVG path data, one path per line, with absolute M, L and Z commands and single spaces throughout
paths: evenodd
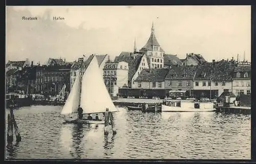
M 96 56 L 93 57 L 82 77 L 80 106 L 83 113 L 117 111 L 103 82 Z

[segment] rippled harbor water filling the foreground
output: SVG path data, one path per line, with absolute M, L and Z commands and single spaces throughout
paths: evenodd
M 63 124 L 61 106 L 14 110 L 22 141 L 7 159 L 250 159 L 251 115 L 142 113 L 118 107 L 117 134 L 104 125 Z M 6 118 L 9 110 L 6 110 Z M 6 119 L 7 120 L 7 119 Z M 6 121 L 7 129 L 7 121 Z

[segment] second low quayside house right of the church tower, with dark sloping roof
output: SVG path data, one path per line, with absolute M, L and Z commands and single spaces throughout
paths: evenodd
M 170 90 L 187 92 L 191 96 L 193 93 L 194 83 L 193 78 L 196 73 L 197 66 L 178 65 L 170 67 L 168 74 L 165 77 L 164 87 L 166 96 Z

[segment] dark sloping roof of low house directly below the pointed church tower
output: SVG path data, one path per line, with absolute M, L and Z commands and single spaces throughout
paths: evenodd
M 166 68 L 143 69 L 135 81 L 164 81 L 168 71 Z

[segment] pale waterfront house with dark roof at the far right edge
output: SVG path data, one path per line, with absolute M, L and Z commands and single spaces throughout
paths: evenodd
M 232 92 L 239 96 L 241 93 L 245 95 L 251 94 L 251 66 L 238 66 L 234 68 Z

